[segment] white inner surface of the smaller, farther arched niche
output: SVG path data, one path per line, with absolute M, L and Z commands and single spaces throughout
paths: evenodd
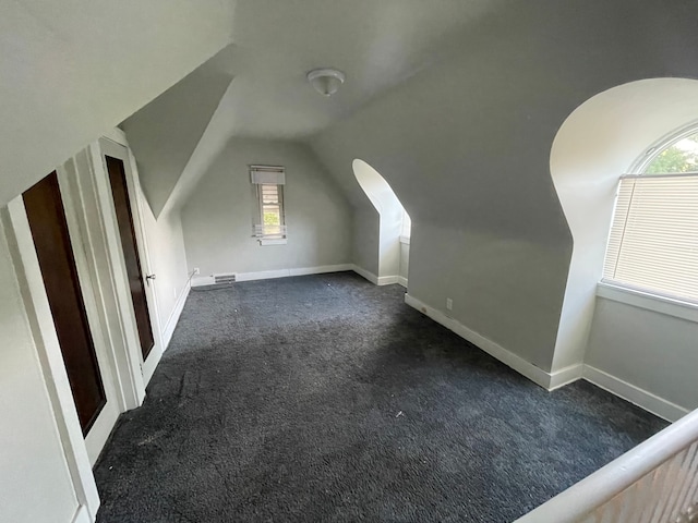
M 351 163 L 357 182 L 378 212 L 378 283 L 395 283 L 400 275 L 407 279 L 410 218 L 385 179 L 361 159 Z M 402 244 L 401 244 L 402 243 Z M 384 280 L 381 280 L 383 278 Z

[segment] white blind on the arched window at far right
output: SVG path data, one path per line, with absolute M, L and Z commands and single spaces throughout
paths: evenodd
M 698 303 L 698 174 L 621 179 L 603 279 Z

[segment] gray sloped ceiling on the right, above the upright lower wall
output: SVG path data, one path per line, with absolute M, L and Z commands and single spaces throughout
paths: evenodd
M 568 244 L 550 177 L 555 133 L 609 87 L 696 77 L 697 22 L 690 1 L 510 4 L 312 144 L 357 204 L 365 197 L 351 161 L 361 158 L 418 221 Z

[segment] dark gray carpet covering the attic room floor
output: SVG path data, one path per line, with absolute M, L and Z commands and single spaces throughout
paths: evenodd
M 95 469 L 98 521 L 506 522 L 665 425 L 402 299 L 350 272 L 192 292 Z

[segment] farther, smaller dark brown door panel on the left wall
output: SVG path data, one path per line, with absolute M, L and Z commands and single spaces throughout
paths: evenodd
M 145 361 L 155 344 L 153 338 L 153 327 L 151 326 L 151 314 L 145 297 L 145 284 L 141 272 L 141 259 L 139 247 L 135 243 L 135 230 L 133 228 L 133 216 L 131 215 L 131 203 L 129 200 L 129 190 L 127 187 L 127 175 L 123 169 L 123 160 L 105 156 L 107 160 L 107 171 L 111 183 L 111 194 L 113 205 L 117 209 L 117 221 L 119 222 L 119 234 L 123 246 L 123 256 L 127 262 L 127 273 L 129 276 L 129 287 L 131 288 L 131 300 L 135 312 L 135 321 L 139 327 L 141 339 L 141 351 Z

